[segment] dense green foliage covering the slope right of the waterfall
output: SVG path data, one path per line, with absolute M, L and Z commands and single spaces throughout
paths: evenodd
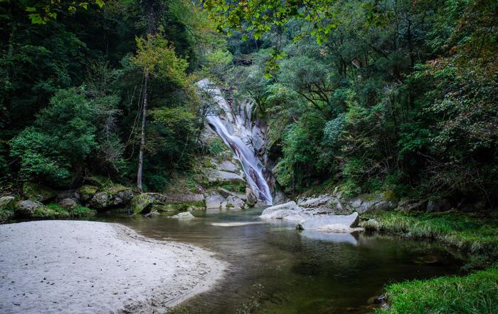
M 315 4 L 332 12 L 320 20 L 334 23 L 327 32 L 307 11 Z M 233 31 L 235 66 L 221 76 L 270 125 L 287 192 L 332 179 L 351 195 L 389 187 L 496 201 L 496 1 L 206 5 Z

